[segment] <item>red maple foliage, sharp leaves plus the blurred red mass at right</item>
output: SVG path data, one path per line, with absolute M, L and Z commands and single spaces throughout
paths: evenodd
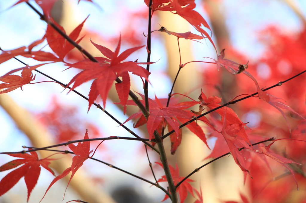
M 92 2 L 91 0 L 88 1 Z M 27 1 L 21 0 L 14 5 L 22 2 Z M 306 188 L 306 157 L 303 153 L 306 143 L 306 80 L 305 77 L 298 76 L 298 74 L 305 72 L 304 64 L 306 58 L 304 56 L 306 55 L 306 31 L 297 34 L 295 38 L 290 38 L 280 34 L 278 30 L 274 28 L 265 30 L 266 33 L 270 34 L 270 41 L 273 41 L 273 43 L 269 45 L 265 57 L 256 62 L 248 62 L 246 59 L 247 56 L 243 56 L 242 54 L 239 54 L 239 60 L 242 61 L 241 63 L 236 62 L 236 60 L 227 59 L 227 53 L 230 55 L 236 54 L 237 56 L 238 54 L 231 50 L 225 51 L 225 49 L 222 49 L 216 59 L 212 59 L 212 62 L 201 61 L 205 66 L 212 66 L 211 64 L 215 66 L 214 70 L 210 70 L 211 73 L 209 74 L 211 75 L 206 73 L 206 75 L 203 76 L 210 84 L 218 84 L 220 82 L 219 78 L 221 71 L 216 72 L 218 69 L 224 69 L 232 75 L 239 76 L 239 79 L 237 79 L 237 86 L 233 87 L 239 96 L 233 95 L 234 99 L 227 101 L 229 103 L 226 105 L 221 104 L 221 95 L 218 95 L 215 88 L 200 89 L 198 98 L 189 98 L 184 95 L 189 99 L 189 101 L 185 102 L 180 102 L 179 97 L 177 97 L 177 95 L 182 95 L 181 93 L 173 93 L 172 90 L 168 98 L 158 98 L 155 96 L 155 99 L 151 99 L 148 98 L 146 90 L 148 81 L 150 81 L 149 67 L 154 63 L 150 61 L 149 56 L 151 50 L 149 50 L 148 46 L 151 40 L 149 36 L 153 31 L 148 33 L 147 46 L 142 45 L 128 48 L 121 53 L 121 36 L 119 37 L 118 45 L 114 51 L 91 41 L 91 44 L 104 56 L 93 57 L 78 45 L 83 39 L 83 37 L 79 36 L 88 17 L 80 23 L 71 34 L 67 35 L 64 28 L 56 23 L 50 16 L 50 11 L 55 1 L 35 2 L 43 10 L 43 14 L 40 14 L 41 19 L 48 23 L 45 35 L 42 39 L 33 42 L 28 47 L 23 46 L 9 51 L 1 49 L 0 63 L 6 62 L 16 56 L 32 58 L 43 63 L 35 66 L 26 65 L 22 68 L 14 69 L 0 77 L 0 80 L 3 82 L 0 84 L 0 88 L 5 89 L 2 90 L 0 94 L 13 91 L 19 87 L 22 89 L 23 85 L 26 84 L 33 84 L 32 81 L 35 80 L 33 71 L 45 64 L 61 62 L 65 64 L 65 66 L 68 66 L 68 69 L 76 68 L 81 71 L 72 77 L 67 85 L 59 84 L 65 88 L 69 88 L 70 91 L 74 91 L 74 89 L 81 84 L 92 81 L 87 98 L 88 111 L 91 105 L 96 105 L 106 112 L 106 100 L 111 86 L 116 82 L 115 88 L 120 100 L 120 102 L 116 104 L 120 104 L 123 107 L 123 114 L 126 113 L 127 105 L 139 107 L 139 111 L 130 115 L 124 123 L 121 124 L 119 121 L 118 123 L 124 126 L 124 124 L 131 119 L 137 119 L 134 124 L 135 128 L 146 125 L 147 137 L 142 139 L 142 137 L 136 135 L 135 139 L 145 142 L 147 146 L 155 149 L 160 156 L 161 162 L 157 164 L 162 166 L 165 175 L 162 175 L 158 180 L 155 178 L 155 183 L 148 180 L 145 181 L 161 188 L 166 193 L 162 201 L 170 198 L 173 202 L 177 202 L 178 196 L 180 202 L 184 202 L 187 194 L 190 193 L 193 197 L 197 198 L 196 203 L 200 203 L 203 202 L 203 195 L 209 195 L 205 193 L 202 194 L 202 191 L 197 191 L 196 188 L 189 183 L 194 180 L 189 179 L 189 176 L 180 174 L 178 166 L 176 165 L 174 168 L 169 165 L 167 163 L 167 158 L 165 158 L 165 154 L 162 154 L 164 153 L 164 148 L 162 146 L 162 140 L 164 139 L 170 139 L 171 141 L 171 154 L 179 150 L 179 145 L 183 137 L 181 128 L 184 126 L 199 137 L 209 149 L 211 147 L 207 143 L 207 139 L 210 137 L 216 138 L 214 147 L 211 148 L 211 154 L 206 158 L 219 158 L 226 154 L 232 155 L 235 163 L 244 172 L 244 182 L 247 180 L 249 181 L 251 193 L 249 199 L 251 202 L 276 202 L 275 196 L 281 197 L 279 202 L 284 202 L 283 199 L 288 199 L 288 201 L 290 201 L 292 200 L 290 199 L 290 194 L 294 185 L 296 185 L 296 187 L 300 185 L 303 189 Z M 151 20 L 153 14 L 157 11 L 168 11 L 181 16 L 190 23 L 199 34 L 193 34 L 190 31 L 185 33 L 168 31 L 165 27 L 161 27 L 159 30 L 155 31 L 166 32 L 169 35 L 176 36 L 178 45 L 179 38 L 192 41 L 196 41 L 195 39 L 208 39 L 215 48 L 214 51 L 217 52 L 211 34 L 208 34 L 206 31 L 209 30 L 209 32 L 211 32 L 211 28 L 200 13 L 195 10 L 196 4 L 194 0 L 145 0 L 144 3 L 150 10 L 151 15 L 149 14 L 149 20 Z M 122 36 L 125 36 L 125 34 Z M 52 52 L 43 50 L 32 51 L 35 50 L 37 45 L 41 45 L 44 42 L 47 42 Z M 84 59 L 74 63 L 67 62 L 66 57 L 74 47 L 79 49 L 84 55 Z M 134 52 L 141 48 L 144 49 L 145 47 L 148 53 L 147 62 L 138 62 L 138 59 L 125 61 Z M 180 62 L 178 68 L 181 69 L 188 63 L 181 64 Z M 263 66 L 263 64 L 265 67 L 269 68 L 270 72 L 268 75 L 263 76 L 260 72 L 261 69 L 259 67 Z M 140 65 L 146 65 L 147 68 Z M 17 71 L 21 71 L 21 76 L 13 74 Z M 140 98 L 130 90 L 131 79 L 129 73 L 139 76 L 143 82 L 145 93 L 136 92 Z M 212 75 L 214 77 L 211 77 Z M 241 77 L 241 75 L 243 76 Z M 292 76 L 298 77 L 290 78 Z M 286 79 L 290 79 L 290 81 Z M 275 87 L 281 86 L 283 83 L 286 83 L 286 87 L 284 87 L 284 85 L 278 87 L 283 88 L 282 92 L 273 92 L 274 89 L 272 89 L 272 87 L 264 89 L 270 85 L 275 85 Z M 72 85 L 72 87 L 69 87 L 70 85 Z M 250 89 L 254 90 L 255 93 L 254 91 L 250 92 Z M 269 89 L 272 90 L 269 91 Z M 267 91 L 269 91 L 269 93 Z M 277 93 L 277 96 L 274 96 L 274 93 Z M 95 104 L 98 96 L 100 96 L 103 101 L 103 108 L 101 105 Z M 241 100 L 248 99 L 246 100 L 248 102 L 240 102 L 240 98 L 243 96 L 245 96 L 245 98 Z M 132 99 L 129 99 L 129 97 Z M 286 103 L 285 100 L 289 98 L 296 99 Z M 249 128 L 248 123 L 244 123 L 241 118 L 238 117 L 238 113 L 231 108 L 230 104 L 236 102 L 239 102 L 239 105 L 236 106 L 236 108 L 239 109 L 239 114 L 248 115 L 249 113 L 256 112 L 261 115 L 256 129 Z M 267 110 L 267 106 L 273 108 Z M 50 118 L 52 122 L 50 122 L 49 125 L 53 128 L 57 128 L 60 132 L 57 141 L 65 143 L 59 144 L 59 146 L 68 146 L 71 150 L 69 153 L 74 154 L 71 167 L 65 169 L 60 175 L 56 176 L 47 188 L 47 191 L 54 183 L 71 172 L 69 184 L 76 174 L 76 171 L 87 159 L 93 158 L 95 154 L 93 153 L 91 155 L 93 149 L 90 148 L 90 141 L 92 140 L 89 139 L 87 130 L 84 139 L 82 141 L 76 141 L 78 144 L 74 145 L 73 142 L 68 140 L 73 139 L 77 132 L 73 131 L 73 127 L 69 128 L 62 125 L 65 122 L 65 117 L 61 116 L 61 118 L 63 117 L 62 120 L 52 118 L 52 116 L 59 116 L 60 112 L 65 111 L 67 111 L 67 109 L 61 109 L 61 106 L 55 105 L 54 109 L 50 112 L 42 114 L 45 118 Z M 282 116 L 283 122 L 280 121 L 281 119 L 274 120 L 274 116 Z M 116 120 L 112 116 L 111 118 Z M 271 118 L 273 119 L 272 122 L 270 121 Z M 201 123 L 201 125 L 199 125 L 199 123 Z M 83 124 L 85 125 L 86 123 L 84 122 Z M 202 124 L 205 125 L 205 128 L 203 128 Z M 165 132 L 166 128 L 168 133 Z M 67 134 L 69 134 L 68 132 L 72 133 L 72 135 L 67 136 Z M 128 130 L 128 132 L 131 133 L 132 131 Z M 267 138 L 273 137 L 271 135 L 275 133 L 272 134 L 272 132 L 281 132 L 280 134 L 282 137 L 277 137 L 277 139 L 271 138 L 270 141 L 273 142 L 269 144 L 253 144 L 265 142 Z M 80 134 L 80 132 L 78 133 Z M 113 138 L 123 139 L 114 136 L 100 137 L 97 139 L 104 141 Z M 149 142 L 152 143 L 150 144 Z M 286 150 L 282 151 L 284 148 Z M 36 151 L 39 150 L 39 148 L 28 148 L 28 151 L 6 153 L 19 159 L 10 161 L 0 167 L 1 172 L 14 169 L 0 181 L 0 195 L 5 194 L 24 177 L 28 189 L 28 201 L 39 178 L 41 167 L 55 175 L 52 169 L 49 168 L 49 164 L 53 159 L 49 157 L 39 159 L 36 153 Z M 62 151 L 62 153 L 68 152 Z M 205 165 L 199 166 L 199 168 L 204 166 Z M 271 172 L 279 166 L 283 166 L 284 169 L 287 170 L 287 173 L 277 174 L 277 176 L 271 175 Z M 123 171 L 122 169 L 120 170 Z M 193 173 L 190 175 L 192 174 Z M 289 178 L 287 176 L 288 174 L 292 175 L 293 178 L 290 177 L 291 180 L 287 180 Z M 282 176 L 286 177 L 282 178 Z M 249 180 L 250 177 L 253 177 L 256 181 Z M 273 180 L 273 177 L 276 177 L 274 178 L 275 180 Z M 278 181 L 278 184 L 275 184 L 275 181 Z M 290 182 L 289 184 L 287 183 L 288 181 Z M 169 186 L 165 189 L 159 185 L 159 182 L 167 182 Z M 278 188 L 281 188 L 281 192 Z M 249 202 L 244 194 L 241 194 L 241 199 L 242 202 Z M 305 194 L 299 194 L 295 197 L 295 202 L 305 202 L 305 199 Z

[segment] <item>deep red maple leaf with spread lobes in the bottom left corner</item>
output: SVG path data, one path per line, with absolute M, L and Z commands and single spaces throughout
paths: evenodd
M 32 148 L 29 148 L 29 150 L 32 150 Z M 6 176 L 4 176 L 4 178 L 2 178 L 2 180 L 0 181 L 0 196 L 2 194 L 5 194 L 7 191 L 9 191 L 22 177 L 24 177 L 24 181 L 28 189 L 27 201 L 29 201 L 30 194 L 33 188 L 35 187 L 38 177 L 40 175 L 41 166 L 47 169 L 50 173 L 52 173 L 52 175 L 55 176 L 53 170 L 50 169 L 49 167 L 50 164 L 49 161 L 54 159 L 51 158 L 39 159 L 35 151 L 30 151 L 30 154 L 18 153 L 18 154 L 9 154 L 9 155 L 13 157 L 18 157 L 20 159 L 15 159 L 0 166 L 0 172 L 16 168 L 17 166 L 20 166 L 22 164 L 24 165 L 11 171 Z

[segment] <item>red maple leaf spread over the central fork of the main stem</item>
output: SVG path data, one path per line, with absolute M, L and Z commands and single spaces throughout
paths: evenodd
M 142 103 L 144 103 L 144 95 L 137 92 L 142 97 L 142 100 L 140 100 Z M 191 119 L 194 114 L 192 114 L 190 111 L 185 111 L 183 109 L 187 109 L 195 104 L 197 102 L 181 102 L 175 105 L 174 100 L 170 100 L 170 105 L 166 107 L 167 104 L 166 98 L 159 99 L 155 95 L 155 100 L 152 100 L 149 98 L 149 109 L 150 114 L 148 117 L 147 122 L 145 122 L 143 115 L 140 117 L 140 122 L 142 124 L 147 123 L 147 130 L 149 133 L 149 139 L 154 138 L 154 131 L 158 129 L 158 126 L 162 122 L 162 126 L 166 126 L 166 124 L 169 124 L 174 131 L 176 132 L 177 138 L 180 137 L 180 131 L 179 126 L 180 123 L 176 120 L 177 118 L 185 118 L 185 119 Z M 115 103 L 119 104 L 119 103 Z M 127 102 L 127 105 L 136 105 L 132 100 L 129 100 Z M 136 112 L 132 114 L 128 119 L 125 120 L 124 123 L 128 122 L 129 120 L 135 118 L 136 116 L 141 115 L 141 112 Z M 176 118 L 176 119 L 175 119 Z M 124 124 L 123 123 L 123 124 Z M 136 125 L 140 126 L 137 122 Z M 134 125 L 134 127 L 136 126 Z

